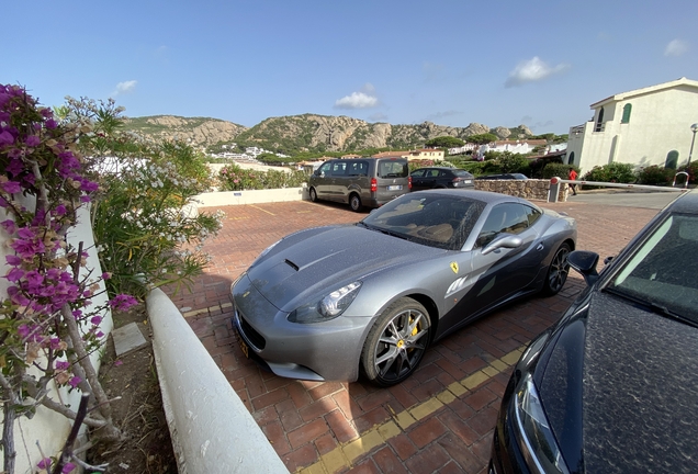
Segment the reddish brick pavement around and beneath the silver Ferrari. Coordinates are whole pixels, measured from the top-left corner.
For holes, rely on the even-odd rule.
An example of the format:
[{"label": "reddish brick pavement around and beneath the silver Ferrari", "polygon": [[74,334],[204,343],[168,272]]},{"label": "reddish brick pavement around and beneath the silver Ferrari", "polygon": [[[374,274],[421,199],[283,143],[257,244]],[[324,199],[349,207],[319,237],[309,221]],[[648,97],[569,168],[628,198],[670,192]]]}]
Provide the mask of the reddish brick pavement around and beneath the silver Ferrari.
[{"label": "reddish brick pavement around and beneath the silver Ferrari", "polygon": [[[656,210],[539,203],[575,217],[578,249],[612,256]],[[364,383],[303,382],[260,371],[230,327],[228,290],[269,245],[294,230],[353,223],[364,214],[328,203],[225,206],[213,257],[192,294],[172,296],[290,472],[483,473],[510,370],[526,343],[554,323],[584,287],[570,273],[556,296],[531,297],[431,347],[416,373],[380,390]],[[224,408],[223,408],[224,409]]]}]

